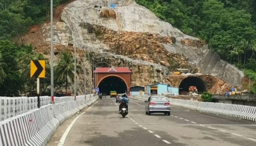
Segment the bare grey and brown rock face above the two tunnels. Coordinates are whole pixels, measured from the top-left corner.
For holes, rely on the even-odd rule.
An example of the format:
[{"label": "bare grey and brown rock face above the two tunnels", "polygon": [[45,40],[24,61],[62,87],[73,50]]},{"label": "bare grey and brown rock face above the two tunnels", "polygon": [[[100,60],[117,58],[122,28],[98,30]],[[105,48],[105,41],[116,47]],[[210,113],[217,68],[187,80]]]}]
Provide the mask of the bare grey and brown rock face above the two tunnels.
[{"label": "bare grey and brown rock face above the two tunnels", "polygon": [[[110,4],[116,7],[110,9]],[[92,8],[81,10],[87,7]],[[76,0],[63,10],[61,20],[55,23],[54,42],[109,52],[106,57],[110,57],[111,65],[116,65],[115,54],[127,55],[129,58],[121,56],[125,58],[121,62],[131,64],[135,78],[139,78],[139,73],[136,74],[134,67],[139,64],[138,59],[143,60],[145,65],[139,65],[143,72],[153,74],[143,77],[145,84],[165,82],[164,78],[175,68],[218,76],[236,86],[240,86],[244,77],[236,67],[209,50],[204,41],[183,34],[132,0]],[[44,39],[49,41],[49,26],[44,29]]]}]

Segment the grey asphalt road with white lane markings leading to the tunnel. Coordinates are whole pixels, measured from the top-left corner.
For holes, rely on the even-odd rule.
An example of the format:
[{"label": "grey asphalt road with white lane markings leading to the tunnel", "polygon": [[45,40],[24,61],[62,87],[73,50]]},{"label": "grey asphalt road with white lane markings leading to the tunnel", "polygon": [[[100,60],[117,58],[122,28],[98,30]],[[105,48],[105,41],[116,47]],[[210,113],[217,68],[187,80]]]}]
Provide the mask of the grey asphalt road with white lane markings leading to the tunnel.
[{"label": "grey asphalt road with white lane markings leading to the tunnel", "polygon": [[[76,118],[61,142],[50,146],[255,146],[255,122],[171,107],[171,116],[145,114],[130,98],[129,114],[118,114],[115,98],[99,99]],[[72,119],[73,120],[73,119]],[[71,121],[70,121],[71,122]],[[71,127],[72,126],[72,127]],[[64,132],[64,131],[62,131]],[[64,141],[65,140],[65,141]]]}]

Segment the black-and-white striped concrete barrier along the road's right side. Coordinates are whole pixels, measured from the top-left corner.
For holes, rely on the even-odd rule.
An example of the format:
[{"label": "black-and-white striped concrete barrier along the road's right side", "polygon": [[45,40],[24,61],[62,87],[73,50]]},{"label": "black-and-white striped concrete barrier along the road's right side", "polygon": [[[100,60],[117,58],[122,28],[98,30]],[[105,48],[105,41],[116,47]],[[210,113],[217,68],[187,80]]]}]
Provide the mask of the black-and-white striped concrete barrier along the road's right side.
[{"label": "black-and-white striped concrete barrier along the road's right side", "polygon": [[256,107],[253,106],[198,102],[173,98],[170,98],[170,102],[172,105],[188,108],[191,110],[256,121]]}]

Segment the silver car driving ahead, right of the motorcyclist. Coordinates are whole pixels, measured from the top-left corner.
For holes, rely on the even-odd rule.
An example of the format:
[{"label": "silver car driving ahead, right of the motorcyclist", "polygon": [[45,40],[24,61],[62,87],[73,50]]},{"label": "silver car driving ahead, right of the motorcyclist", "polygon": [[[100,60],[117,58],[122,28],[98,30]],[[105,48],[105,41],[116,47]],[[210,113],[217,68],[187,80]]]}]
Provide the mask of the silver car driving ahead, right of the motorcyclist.
[{"label": "silver car driving ahead, right of the motorcyclist", "polygon": [[165,115],[170,116],[171,106],[170,102],[164,96],[151,96],[148,100],[145,100],[146,104],[146,115],[151,113],[162,112]]}]

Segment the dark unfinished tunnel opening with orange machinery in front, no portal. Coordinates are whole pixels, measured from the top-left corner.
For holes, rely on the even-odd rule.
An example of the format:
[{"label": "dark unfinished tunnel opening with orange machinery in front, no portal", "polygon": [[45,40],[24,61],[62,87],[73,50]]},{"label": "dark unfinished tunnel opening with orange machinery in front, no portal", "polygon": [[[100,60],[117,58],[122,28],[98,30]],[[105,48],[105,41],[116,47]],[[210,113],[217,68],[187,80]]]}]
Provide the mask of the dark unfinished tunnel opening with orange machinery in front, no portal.
[{"label": "dark unfinished tunnel opening with orange machinery in front, no portal", "polygon": [[199,77],[187,77],[180,82],[179,94],[187,95],[190,86],[196,86],[199,94],[207,91],[207,86],[204,80]]}]

